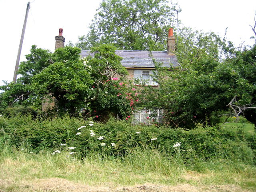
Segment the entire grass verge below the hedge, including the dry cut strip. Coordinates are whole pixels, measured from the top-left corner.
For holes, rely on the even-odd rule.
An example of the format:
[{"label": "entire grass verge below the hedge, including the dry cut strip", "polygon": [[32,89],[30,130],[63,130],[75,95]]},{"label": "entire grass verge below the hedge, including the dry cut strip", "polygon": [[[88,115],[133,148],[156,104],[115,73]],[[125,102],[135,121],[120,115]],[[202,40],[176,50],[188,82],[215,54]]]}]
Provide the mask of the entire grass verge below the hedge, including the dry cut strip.
[{"label": "entire grass verge below the hedge, including the dry cut strip", "polygon": [[[202,171],[174,165],[151,154],[143,166],[133,160],[75,160],[66,154],[16,151],[0,158],[0,192],[253,192],[255,166],[224,164]],[[155,156],[154,156],[155,155]],[[158,157],[158,158],[156,158]],[[204,167],[203,167],[204,166]],[[219,167],[219,168],[218,168]],[[212,170],[215,169],[215,170]]]}]

